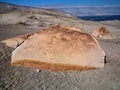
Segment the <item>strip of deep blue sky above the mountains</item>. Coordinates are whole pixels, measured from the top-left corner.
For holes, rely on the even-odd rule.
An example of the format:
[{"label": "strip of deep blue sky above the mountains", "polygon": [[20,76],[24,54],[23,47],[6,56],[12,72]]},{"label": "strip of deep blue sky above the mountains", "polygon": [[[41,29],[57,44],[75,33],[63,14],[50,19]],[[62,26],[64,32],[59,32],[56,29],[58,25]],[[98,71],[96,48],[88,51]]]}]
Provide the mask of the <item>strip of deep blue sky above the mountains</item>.
[{"label": "strip of deep blue sky above the mountains", "polygon": [[43,6],[43,5],[87,5],[87,6],[103,6],[103,5],[120,5],[120,0],[0,0],[0,2],[8,2],[22,6]]}]

